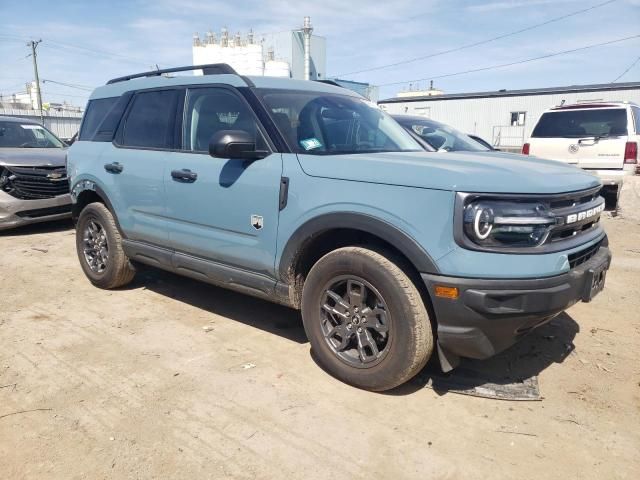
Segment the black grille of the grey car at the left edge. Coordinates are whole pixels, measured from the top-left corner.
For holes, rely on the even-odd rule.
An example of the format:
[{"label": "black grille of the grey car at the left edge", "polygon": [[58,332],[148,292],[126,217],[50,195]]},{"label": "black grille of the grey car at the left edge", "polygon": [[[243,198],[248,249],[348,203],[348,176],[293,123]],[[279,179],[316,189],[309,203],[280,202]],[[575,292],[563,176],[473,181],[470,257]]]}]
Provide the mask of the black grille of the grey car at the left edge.
[{"label": "black grille of the grey car at the left edge", "polygon": [[2,189],[23,200],[53,198],[69,193],[65,167],[4,167]]}]

